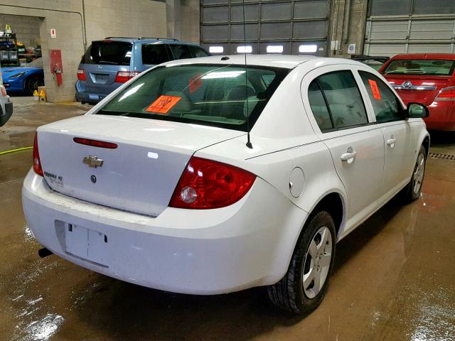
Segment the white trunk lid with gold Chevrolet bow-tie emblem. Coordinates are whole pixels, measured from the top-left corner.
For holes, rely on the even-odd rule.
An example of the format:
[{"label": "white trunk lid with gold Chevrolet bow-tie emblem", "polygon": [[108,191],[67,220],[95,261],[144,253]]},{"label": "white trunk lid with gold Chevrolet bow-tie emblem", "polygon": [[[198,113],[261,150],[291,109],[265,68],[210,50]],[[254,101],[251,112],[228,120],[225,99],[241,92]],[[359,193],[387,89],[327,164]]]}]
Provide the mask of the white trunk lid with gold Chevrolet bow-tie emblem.
[{"label": "white trunk lid with gold Chevrolet bow-tie emblem", "polygon": [[[53,190],[158,216],[195,151],[243,134],[196,124],[86,115],[41,127],[38,145],[45,180]],[[117,148],[80,144],[75,138]]]}]

